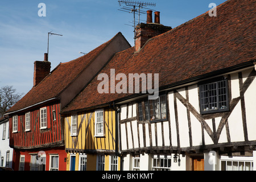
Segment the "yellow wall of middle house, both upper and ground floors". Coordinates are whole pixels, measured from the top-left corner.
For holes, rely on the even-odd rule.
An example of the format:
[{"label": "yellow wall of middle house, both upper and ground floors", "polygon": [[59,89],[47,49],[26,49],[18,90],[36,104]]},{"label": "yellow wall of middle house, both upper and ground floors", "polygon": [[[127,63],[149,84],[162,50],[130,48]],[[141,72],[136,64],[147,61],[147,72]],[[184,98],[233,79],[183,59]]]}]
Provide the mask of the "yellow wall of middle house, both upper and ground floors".
[{"label": "yellow wall of middle house, both upper and ground floors", "polygon": [[[77,136],[71,136],[71,115],[65,117],[65,148],[76,152],[76,170],[79,169],[79,152],[84,150],[115,150],[115,111],[104,109],[104,137],[94,137],[95,111],[77,114]],[[87,171],[96,171],[97,154],[87,155]],[[120,169],[120,160],[118,159]],[[70,154],[67,170],[69,171]],[[105,171],[109,170],[109,154],[105,155]]]}]

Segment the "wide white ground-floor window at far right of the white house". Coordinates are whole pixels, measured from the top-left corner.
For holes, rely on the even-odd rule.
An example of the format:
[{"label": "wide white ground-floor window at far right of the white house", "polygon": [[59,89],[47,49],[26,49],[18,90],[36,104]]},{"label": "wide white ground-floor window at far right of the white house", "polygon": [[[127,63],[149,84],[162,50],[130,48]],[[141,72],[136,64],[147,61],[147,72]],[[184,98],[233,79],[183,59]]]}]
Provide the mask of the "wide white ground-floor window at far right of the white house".
[{"label": "wide white ground-floor window at far right of the white house", "polygon": [[[221,171],[253,171],[252,157],[235,157],[236,159],[229,159],[226,156],[221,156]],[[247,159],[248,158],[248,159]],[[251,158],[251,159],[250,159]]]}]

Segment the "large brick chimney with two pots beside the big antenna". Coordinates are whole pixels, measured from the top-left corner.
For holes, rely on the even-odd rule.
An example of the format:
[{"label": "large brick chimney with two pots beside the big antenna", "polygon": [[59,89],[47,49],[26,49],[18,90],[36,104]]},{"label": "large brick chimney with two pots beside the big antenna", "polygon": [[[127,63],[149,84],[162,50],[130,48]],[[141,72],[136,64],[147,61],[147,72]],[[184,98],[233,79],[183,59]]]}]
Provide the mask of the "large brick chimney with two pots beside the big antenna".
[{"label": "large brick chimney with two pots beside the big antenna", "polygon": [[138,24],[135,28],[135,51],[141,50],[148,39],[171,30],[172,27],[160,24],[160,12],[155,11],[155,22],[152,23],[152,11],[147,11],[147,23]]}]

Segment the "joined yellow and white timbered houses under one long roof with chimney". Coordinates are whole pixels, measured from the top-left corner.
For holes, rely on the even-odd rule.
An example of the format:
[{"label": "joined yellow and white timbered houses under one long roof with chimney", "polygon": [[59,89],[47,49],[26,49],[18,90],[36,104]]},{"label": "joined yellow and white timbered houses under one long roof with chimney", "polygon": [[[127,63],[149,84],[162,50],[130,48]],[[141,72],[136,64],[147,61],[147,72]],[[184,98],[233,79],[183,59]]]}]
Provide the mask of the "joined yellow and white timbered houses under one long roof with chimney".
[{"label": "joined yellow and white timbered houses under one long roof with chimney", "polygon": [[[254,7],[253,0],[229,0],[217,6],[217,16],[207,12],[173,29],[160,24],[159,12],[152,23],[148,11],[147,23],[137,26],[135,47],[115,53],[102,68],[106,82],[99,73],[64,109],[69,160],[109,147],[124,170],[253,170]],[[145,78],[147,86],[158,82],[158,97],[144,93]],[[104,109],[101,139],[98,109]],[[115,137],[108,127],[113,110]],[[78,135],[70,137],[73,131]],[[103,142],[109,138],[118,147]]]}]

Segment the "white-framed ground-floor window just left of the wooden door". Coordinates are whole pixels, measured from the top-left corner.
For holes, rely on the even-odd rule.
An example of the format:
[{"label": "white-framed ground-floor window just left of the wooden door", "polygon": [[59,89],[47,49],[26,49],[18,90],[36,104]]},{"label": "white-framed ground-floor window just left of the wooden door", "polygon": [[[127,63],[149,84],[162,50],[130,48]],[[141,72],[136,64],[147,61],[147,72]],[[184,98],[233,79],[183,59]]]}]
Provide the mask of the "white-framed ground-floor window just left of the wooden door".
[{"label": "white-framed ground-floor window just left of the wooden door", "polygon": [[170,171],[171,170],[171,156],[170,155],[154,155],[153,171]]}]

